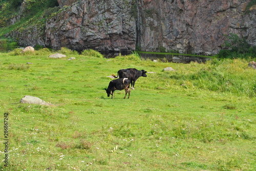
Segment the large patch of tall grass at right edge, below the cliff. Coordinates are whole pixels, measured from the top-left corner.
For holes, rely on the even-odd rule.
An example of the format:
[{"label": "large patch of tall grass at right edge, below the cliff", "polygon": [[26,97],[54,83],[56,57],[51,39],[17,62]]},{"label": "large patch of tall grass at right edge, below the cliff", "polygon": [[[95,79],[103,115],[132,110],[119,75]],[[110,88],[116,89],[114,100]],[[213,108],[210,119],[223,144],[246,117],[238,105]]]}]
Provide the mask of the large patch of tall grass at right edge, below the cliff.
[{"label": "large patch of tall grass at right edge, below the cliff", "polygon": [[213,59],[194,72],[175,72],[169,77],[179,80],[179,84],[187,89],[196,88],[254,97],[256,96],[254,75],[255,70],[248,67],[245,59]]}]

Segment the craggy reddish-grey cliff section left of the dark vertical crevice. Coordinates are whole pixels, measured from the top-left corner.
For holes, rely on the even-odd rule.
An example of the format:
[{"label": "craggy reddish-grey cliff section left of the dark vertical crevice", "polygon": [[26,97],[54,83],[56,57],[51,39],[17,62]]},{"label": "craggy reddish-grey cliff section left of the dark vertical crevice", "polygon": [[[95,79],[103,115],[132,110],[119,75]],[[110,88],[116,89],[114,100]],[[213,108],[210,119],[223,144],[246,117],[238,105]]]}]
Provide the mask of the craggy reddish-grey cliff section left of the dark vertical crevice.
[{"label": "craggy reddish-grey cliff section left of the dark vertical crevice", "polygon": [[78,51],[135,50],[136,22],[130,11],[129,1],[78,1],[47,20],[46,45]]}]

